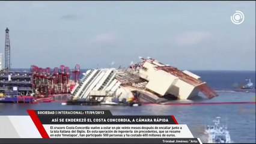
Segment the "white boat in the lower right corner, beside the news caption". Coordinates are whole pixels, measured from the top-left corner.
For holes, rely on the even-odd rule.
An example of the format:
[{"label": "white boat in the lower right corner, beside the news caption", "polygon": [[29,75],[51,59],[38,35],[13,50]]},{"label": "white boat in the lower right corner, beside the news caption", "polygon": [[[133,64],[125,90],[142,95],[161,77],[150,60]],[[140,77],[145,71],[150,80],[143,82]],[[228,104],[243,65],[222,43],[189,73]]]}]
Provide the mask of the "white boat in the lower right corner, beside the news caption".
[{"label": "white boat in the lower right corner, beside the news caption", "polygon": [[208,135],[208,143],[231,143],[227,126],[221,125],[221,117],[216,117],[215,125],[207,125],[205,134]]}]

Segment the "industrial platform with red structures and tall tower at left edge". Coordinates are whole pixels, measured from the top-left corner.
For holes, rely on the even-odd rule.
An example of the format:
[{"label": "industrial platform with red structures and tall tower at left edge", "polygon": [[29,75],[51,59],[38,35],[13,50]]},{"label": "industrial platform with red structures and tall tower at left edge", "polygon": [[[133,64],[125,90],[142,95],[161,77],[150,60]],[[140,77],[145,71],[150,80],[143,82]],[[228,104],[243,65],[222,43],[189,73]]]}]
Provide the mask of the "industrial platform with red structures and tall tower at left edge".
[{"label": "industrial platform with red structures and tall tower at left edge", "polygon": [[[69,71],[69,67],[60,65],[53,71],[31,65],[31,71],[11,70],[10,30],[5,29],[5,68],[2,70],[2,53],[0,53],[0,102],[1,101],[30,101],[29,97],[62,98],[59,94],[70,94],[70,91],[78,82],[80,66]],[[72,79],[70,77],[72,76]]]}]

